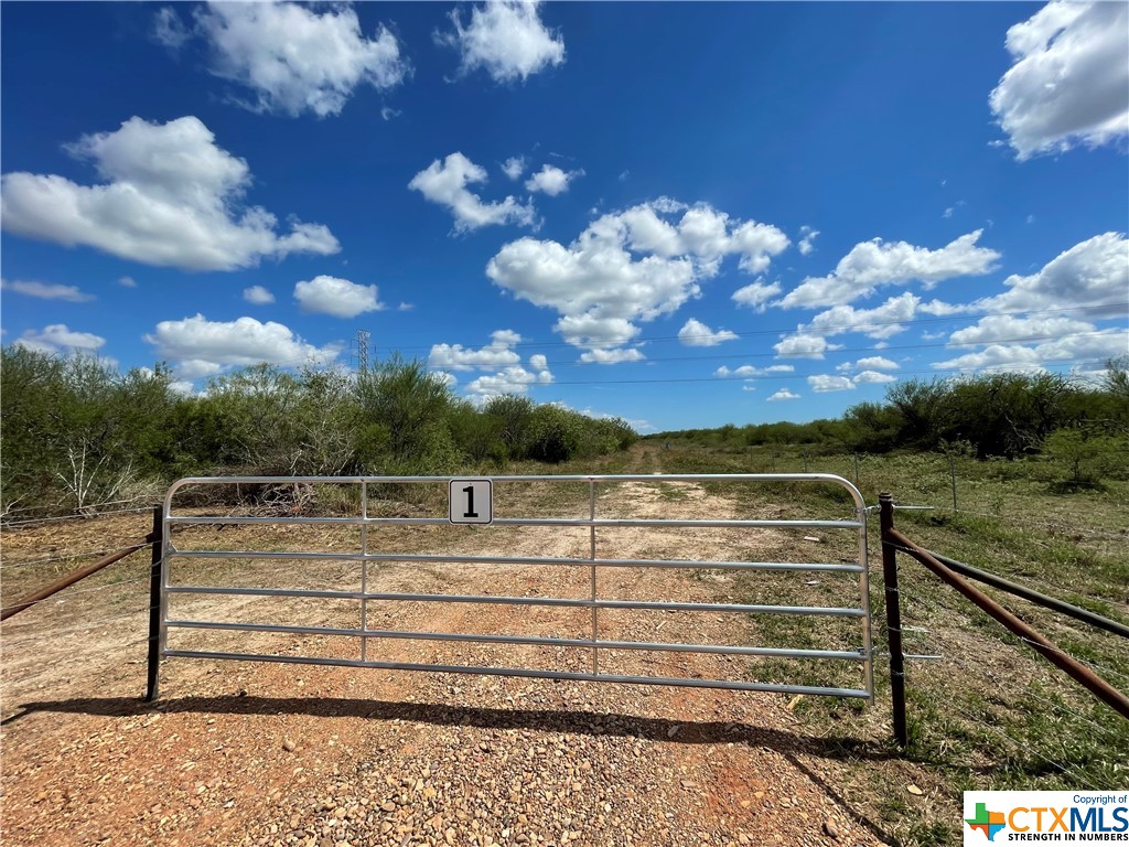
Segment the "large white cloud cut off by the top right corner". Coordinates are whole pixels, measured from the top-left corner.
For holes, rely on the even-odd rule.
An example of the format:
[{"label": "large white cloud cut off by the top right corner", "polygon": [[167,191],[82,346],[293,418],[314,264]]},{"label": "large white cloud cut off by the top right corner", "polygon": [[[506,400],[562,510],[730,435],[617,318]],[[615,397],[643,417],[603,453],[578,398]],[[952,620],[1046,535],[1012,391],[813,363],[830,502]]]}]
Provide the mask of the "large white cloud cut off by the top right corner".
[{"label": "large white cloud cut off by the top right corner", "polygon": [[989,102],[1018,159],[1129,134],[1129,5],[1052,0],[1007,30]]}]

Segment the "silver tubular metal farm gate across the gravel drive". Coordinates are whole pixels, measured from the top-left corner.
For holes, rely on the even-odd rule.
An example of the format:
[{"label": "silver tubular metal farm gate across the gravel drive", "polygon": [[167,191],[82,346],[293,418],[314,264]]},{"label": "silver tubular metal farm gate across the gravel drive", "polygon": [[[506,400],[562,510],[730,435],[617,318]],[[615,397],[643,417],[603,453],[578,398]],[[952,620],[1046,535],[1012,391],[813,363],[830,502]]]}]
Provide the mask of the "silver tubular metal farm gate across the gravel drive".
[{"label": "silver tubular metal farm gate across the gravel drive", "polygon": [[[440,526],[452,524],[441,517],[403,517],[378,516],[370,512],[371,492],[374,488],[384,486],[435,484],[449,487],[455,481],[449,477],[219,477],[182,479],[168,490],[163,510],[164,547],[155,547],[155,574],[159,568],[159,579],[155,576],[154,617],[150,641],[150,674],[147,699],[154,700],[159,693],[158,667],[159,660],[170,657],[280,662],[288,664],[338,665],[349,667],[376,667],[396,671],[434,671],[446,673],[471,673],[499,676],[524,676],[535,679],[585,680],[592,682],[620,682],[659,686],[684,686],[691,688],[721,688],[742,691],[773,691],[781,693],[823,695],[830,697],[865,698],[874,697],[873,641],[870,628],[869,586],[867,576],[867,509],[861,494],[848,480],[826,473],[773,473],[773,474],[614,474],[614,475],[530,475],[530,477],[490,477],[492,487],[505,487],[519,483],[542,484],[580,484],[587,486],[587,515],[583,517],[522,517],[500,516],[492,519],[490,527],[478,527],[480,531],[493,531],[497,527],[586,527],[588,530],[587,557],[531,557],[531,556],[474,556],[449,552],[408,553],[408,552],[374,552],[370,542],[374,533],[382,529],[394,526]],[[854,517],[848,519],[759,519],[759,518],[615,518],[597,515],[597,486],[623,483],[830,483],[844,489],[854,503]],[[191,487],[200,486],[351,486],[359,488],[358,514],[345,517],[310,517],[310,516],[224,516],[224,515],[187,515],[174,510],[175,496]],[[493,489],[491,489],[493,490]],[[469,509],[473,512],[473,507]],[[352,552],[322,551],[250,551],[250,550],[200,550],[181,549],[173,542],[173,527],[202,525],[289,525],[289,526],[335,526],[358,527],[359,549]],[[639,529],[728,529],[761,530],[793,529],[823,530],[828,532],[848,532],[857,536],[857,559],[835,562],[767,562],[767,561],[714,561],[695,559],[647,559],[647,558],[610,558],[599,557],[598,533],[611,527]],[[464,531],[466,527],[461,527]],[[180,585],[169,579],[172,565],[181,557],[219,560],[268,560],[280,566],[294,566],[303,561],[332,561],[355,566],[359,570],[359,591],[315,590],[315,588],[278,588],[219,585]],[[815,557],[807,557],[815,558]],[[498,596],[469,594],[431,594],[431,593],[396,593],[373,591],[370,587],[370,567],[379,567],[386,562],[403,562],[419,566],[443,566],[450,564],[495,566],[574,566],[587,568],[589,571],[589,591],[585,597],[549,597],[549,596]],[[774,605],[752,603],[704,603],[662,600],[615,600],[603,599],[599,595],[599,574],[610,568],[642,569],[691,569],[708,568],[726,571],[813,571],[857,574],[858,595],[856,605],[811,606],[811,605]],[[320,627],[305,625],[252,623],[239,621],[216,621],[169,617],[172,599],[185,596],[229,596],[229,597],[292,597],[309,601],[355,601],[359,606],[359,627]],[[545,606],[590,609],[590,635],[583,638],[557,638],[535,635],[489,635],[475,632],[440,632],[413,631],[402,629],[380,629],[370,626],[369,604],[384,601],[401,601],[435,604],[502,604],[506,606]],[[747,645],[712,645],[680,644],[644,640],[605,639],[601,637],[601,612],[607,610],[665,610],[684,612],[709,612],[717,614],[738,615],[821,615],[843,618],[858,621],[860,644],[857,649],[812,649],[767,647]],[[212,630],[242,631],[252,634],[283,634],[291,636],[339,636],[355,639],[359,643],[358,655],[355,658],[341,656],[280,655],[255,652],[208,650],[169,648],[169,631]],[[571,647],[585,648],[590,652],[590,671],[575,672],[562,670],[539,670],[532,667],[498,667],[436,664],[427,662],[378,661],[369,656],[369,643],[378,639],[409,639],[418,641],[461,641],[484,645],[526,645],[537,647]],[[834,660],[837,662],[857,663],[861,667],[863,684],[858,688],[838,686],[812,686],[772,683],[745,680],[698,679],[691,676],[648,676],[601,671],[599,658],[603,650],[644,650],[683,654],[729,654],[737,656],[759,656],[791,660]]]}]

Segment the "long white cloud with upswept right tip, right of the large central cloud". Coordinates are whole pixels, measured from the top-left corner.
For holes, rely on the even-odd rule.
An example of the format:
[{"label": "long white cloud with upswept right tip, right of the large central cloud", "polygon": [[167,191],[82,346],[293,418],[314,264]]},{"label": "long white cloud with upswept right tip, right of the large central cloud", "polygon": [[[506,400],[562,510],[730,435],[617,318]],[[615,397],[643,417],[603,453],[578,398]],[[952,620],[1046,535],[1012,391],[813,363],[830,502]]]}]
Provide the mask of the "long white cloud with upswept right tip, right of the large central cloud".
[{"label": "long white cloud with upswept right tip, right of the large central cloud", "polygon": [[785,308],[835,306],[873,294],[889,285],[918,280],[925,288],[954,277],[988,273],[999,253],[977,246],[978,229],[939,250],[881,238],[856,244],[826,277],[808,277],[777,305]]}]

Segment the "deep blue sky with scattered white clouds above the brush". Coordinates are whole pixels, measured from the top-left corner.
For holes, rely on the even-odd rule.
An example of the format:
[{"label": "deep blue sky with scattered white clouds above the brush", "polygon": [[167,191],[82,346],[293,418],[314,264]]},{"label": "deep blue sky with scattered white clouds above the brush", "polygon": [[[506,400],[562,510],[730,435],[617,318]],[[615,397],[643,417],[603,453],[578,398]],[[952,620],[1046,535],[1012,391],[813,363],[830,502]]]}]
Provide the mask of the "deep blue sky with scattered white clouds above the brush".
[{"label": "deep blue sky with scattered white clouds above the brush", "polygon": [[645,431],[1129,351],[1126,3],[5,3],[3,342]]}]

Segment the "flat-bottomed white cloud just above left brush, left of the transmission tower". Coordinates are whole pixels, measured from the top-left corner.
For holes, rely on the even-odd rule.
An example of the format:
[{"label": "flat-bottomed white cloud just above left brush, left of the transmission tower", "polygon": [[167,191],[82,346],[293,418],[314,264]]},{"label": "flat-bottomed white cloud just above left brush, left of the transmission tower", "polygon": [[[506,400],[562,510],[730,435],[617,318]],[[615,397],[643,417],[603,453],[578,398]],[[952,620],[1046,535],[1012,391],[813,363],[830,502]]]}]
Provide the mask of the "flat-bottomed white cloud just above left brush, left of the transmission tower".
[{"label": "flat-bottomed white cloud just above left brush, left of the transmission tower", "polygon": [[341,351],[335,344],[318,348],[307,343],[274,321],[209,321],[199,314],[182,321],[161,321],[145,340],[157,348],[160,358],[177,363],[177,373],[186,379],[263,361],[325,365]]}]

